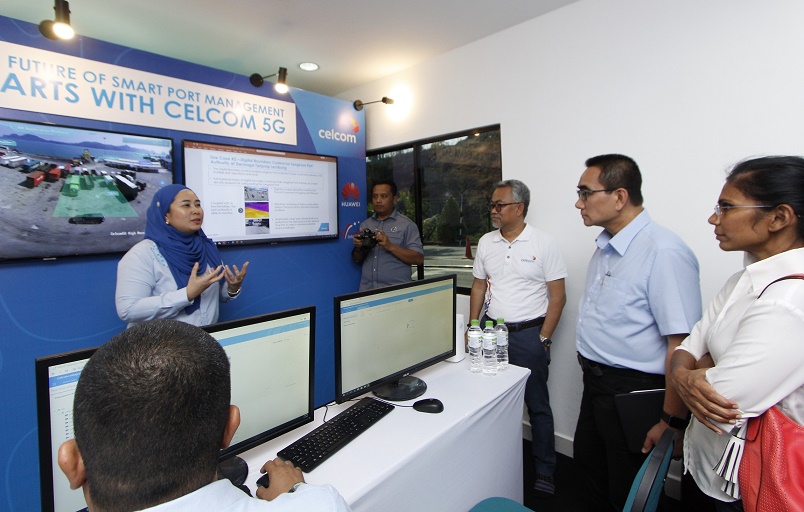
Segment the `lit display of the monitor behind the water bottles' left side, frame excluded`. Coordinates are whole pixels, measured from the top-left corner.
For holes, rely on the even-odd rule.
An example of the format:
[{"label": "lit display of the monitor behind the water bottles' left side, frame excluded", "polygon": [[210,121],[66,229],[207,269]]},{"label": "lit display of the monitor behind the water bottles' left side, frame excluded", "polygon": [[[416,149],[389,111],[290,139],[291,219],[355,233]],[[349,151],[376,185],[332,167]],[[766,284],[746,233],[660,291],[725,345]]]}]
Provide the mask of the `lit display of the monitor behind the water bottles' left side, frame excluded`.
[{"label": "lit display of the monitor behind the water bottles' left side, frame excluded", "polygon": [[[415,291],[395,290],[341,303],[344,390],[449,351],[455,322],[452,294],[452,284],[433,283]],[[374,335],[378,332],[383,335]]]}]

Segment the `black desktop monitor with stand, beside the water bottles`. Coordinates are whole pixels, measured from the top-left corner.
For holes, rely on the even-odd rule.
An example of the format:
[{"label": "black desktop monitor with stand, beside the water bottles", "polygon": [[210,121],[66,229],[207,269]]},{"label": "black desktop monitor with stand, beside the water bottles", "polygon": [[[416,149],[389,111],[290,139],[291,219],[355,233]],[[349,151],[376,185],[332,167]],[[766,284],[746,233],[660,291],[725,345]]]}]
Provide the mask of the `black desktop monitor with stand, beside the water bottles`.
[{"label": "black desktop monitor with stand, beside the water bottles", "polygon": [[446,275],[335,297],[335,399],[373,391],[410,400],[427,385],[410,375],[455,355],[457,277]]}]

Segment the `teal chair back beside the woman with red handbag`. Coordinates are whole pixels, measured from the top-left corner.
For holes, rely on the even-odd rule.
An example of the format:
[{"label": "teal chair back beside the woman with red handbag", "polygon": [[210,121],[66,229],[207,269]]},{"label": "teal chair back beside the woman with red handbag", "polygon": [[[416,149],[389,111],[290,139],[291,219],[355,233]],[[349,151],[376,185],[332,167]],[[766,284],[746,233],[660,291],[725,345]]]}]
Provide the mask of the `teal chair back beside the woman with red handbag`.
[{"label": "teal chair back beside the woman with red handbag", "polygon": [[666,429],[639,469],[623,512],[655,512],[673,458],[675,431]]}]

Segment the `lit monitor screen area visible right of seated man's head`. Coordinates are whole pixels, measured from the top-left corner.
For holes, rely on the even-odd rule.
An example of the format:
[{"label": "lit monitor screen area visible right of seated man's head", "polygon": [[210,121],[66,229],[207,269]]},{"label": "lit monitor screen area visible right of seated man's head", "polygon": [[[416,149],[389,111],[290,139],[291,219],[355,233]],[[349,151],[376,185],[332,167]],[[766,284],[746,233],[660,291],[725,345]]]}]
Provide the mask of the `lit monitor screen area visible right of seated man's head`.
[{"label": "lit monitor screen area visible right of seated man's head", "polygon": [[307,413],[310,315],[212,333],[229,356],[240,427],[232,445]]}]

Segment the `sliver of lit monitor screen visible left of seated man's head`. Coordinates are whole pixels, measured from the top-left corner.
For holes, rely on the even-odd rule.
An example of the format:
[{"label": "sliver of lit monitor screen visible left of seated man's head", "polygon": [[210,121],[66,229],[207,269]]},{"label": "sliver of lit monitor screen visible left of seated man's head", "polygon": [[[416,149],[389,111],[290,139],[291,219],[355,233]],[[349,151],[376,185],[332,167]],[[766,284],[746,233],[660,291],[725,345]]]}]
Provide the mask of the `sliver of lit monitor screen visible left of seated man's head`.
[{"label": "sliver of lit monitor screen visible left of seated man's head", "polygon": [[49,370],[50,451],[53,465],[53,498],[56,512],[75,512],[87,506],[81,489],[70,489],[70,482],[58,464],[59,446],[75,437],[73,430],[73,396],[81,370],[89,359],[53,366]]}]

